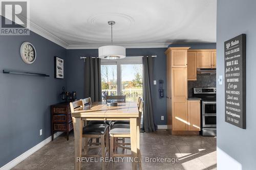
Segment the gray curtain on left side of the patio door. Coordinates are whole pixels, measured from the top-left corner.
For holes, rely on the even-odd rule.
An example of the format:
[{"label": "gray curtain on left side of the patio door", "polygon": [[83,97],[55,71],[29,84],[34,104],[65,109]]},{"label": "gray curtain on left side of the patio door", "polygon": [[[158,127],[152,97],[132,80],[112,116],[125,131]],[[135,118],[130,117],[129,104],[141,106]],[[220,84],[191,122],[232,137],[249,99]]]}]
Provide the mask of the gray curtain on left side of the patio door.
[{"label": "gray curtain on left side of the patio door", "polygon": [[100,58],[87,57],[84,64],[85,97],[92,102],[101,102]]}]

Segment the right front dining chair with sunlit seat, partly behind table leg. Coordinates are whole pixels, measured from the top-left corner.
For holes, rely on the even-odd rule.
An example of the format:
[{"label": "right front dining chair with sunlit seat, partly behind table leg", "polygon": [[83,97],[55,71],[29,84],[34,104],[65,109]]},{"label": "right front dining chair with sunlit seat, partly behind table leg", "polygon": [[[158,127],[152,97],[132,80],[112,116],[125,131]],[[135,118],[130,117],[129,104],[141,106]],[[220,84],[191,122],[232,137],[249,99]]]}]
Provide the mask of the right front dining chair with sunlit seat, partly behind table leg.
[{"label": "right front dining chair with sunlit seat, partly behind table leg", "polygon": [[[140,99],[139,102],[139,117],[137,119],[137,125],[139,126],[140,129],[140,120],[141,120],[141,115],[143,112],[143,101]],[[118,142],[117,138],[118,137],[125,137],[125,138],[131,138],[131,133],[130,133],[130,125],[129,128],[114,128],[110,130],[110,158],[114,159],[114,157],[132,157],[132,154],[116,154],[115,152],[117,151],[117,148],[123,148],[126,150],[131,150],[129,147],[125,147],[125,145],[131,145],[131,143],[120,143]],[[138,139],[139,140],[139,139]],[[140,150],[138,150],[138,157],[140,159],[139,161],[139,168],[142,169],[141,167],[141,154]]]}]

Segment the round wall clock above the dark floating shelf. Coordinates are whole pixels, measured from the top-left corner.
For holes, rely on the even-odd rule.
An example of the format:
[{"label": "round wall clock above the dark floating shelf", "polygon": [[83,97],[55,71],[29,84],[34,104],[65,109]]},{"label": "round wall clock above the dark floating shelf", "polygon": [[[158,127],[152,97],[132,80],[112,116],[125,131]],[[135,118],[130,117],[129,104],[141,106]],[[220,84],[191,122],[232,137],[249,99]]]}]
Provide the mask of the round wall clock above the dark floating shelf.
[{"label": "round wall clock above the dark floating shelf", "polygon": [[35,47],[30,42],[23,42],[20,46],[20,57],[27,64],[32,64],[36,58]]}]

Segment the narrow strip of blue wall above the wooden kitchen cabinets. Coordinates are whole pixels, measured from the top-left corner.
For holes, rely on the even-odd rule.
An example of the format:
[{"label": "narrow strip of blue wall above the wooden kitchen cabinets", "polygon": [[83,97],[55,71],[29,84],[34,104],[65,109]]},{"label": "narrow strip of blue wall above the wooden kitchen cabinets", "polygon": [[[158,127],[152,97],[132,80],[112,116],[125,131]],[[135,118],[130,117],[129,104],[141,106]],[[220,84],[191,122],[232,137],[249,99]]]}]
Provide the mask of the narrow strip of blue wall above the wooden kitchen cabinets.
[{"label": "narrow strip of blue wall above the wooden kitchen cabinets", "polygon": [[190,46],[189,49],[216,49],[216,43],[179,43],[169,44],[168,47]]}]

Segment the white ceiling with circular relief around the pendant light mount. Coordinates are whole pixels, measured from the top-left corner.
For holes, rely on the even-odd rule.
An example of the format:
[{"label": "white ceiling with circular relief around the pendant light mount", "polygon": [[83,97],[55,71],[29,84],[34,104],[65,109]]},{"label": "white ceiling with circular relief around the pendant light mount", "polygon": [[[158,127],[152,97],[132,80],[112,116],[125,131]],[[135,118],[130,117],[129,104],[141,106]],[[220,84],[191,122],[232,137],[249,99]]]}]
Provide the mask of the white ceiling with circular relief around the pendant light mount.
[{"label": "white ceiling with circular relief around the pendant light mount", "polygon": [[216,42],[216,4],[216,0],[36,0],[30,1],[30,21],[32,31],[48,34],[67,48],[109,44],[109,20],[116,21],[114,44]]}]

